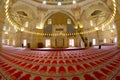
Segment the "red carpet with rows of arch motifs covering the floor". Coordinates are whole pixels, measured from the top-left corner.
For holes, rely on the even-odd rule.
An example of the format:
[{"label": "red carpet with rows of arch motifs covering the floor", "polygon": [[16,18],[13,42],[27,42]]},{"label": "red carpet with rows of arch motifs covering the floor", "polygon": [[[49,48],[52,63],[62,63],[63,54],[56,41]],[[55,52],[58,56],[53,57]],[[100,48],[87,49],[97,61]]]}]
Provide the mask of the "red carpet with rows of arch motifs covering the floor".
[{"label": "red carpet with rows of arch motifs covering the floor", "polygon": [[0,80],[120,80],[120,49],[0,50]]}]

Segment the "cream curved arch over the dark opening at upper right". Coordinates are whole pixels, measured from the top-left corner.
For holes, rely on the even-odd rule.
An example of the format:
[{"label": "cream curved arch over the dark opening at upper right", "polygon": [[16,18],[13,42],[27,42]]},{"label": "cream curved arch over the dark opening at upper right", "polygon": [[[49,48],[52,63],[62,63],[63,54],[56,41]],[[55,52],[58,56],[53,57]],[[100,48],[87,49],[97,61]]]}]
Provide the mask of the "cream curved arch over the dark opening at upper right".
[{"label": "cream curved arch over the dark opening at upper right", "polygon": [[[81,10],[81,16],[84,16],[85,20],[89,20],[91,18],[91,14],[100,11],[100,13],[105,13],[104,16],[109,16],[110,10],[102,1],[95,1],[92,4],[84,6]],[[98,14],[97,14],[98,15]]]}]

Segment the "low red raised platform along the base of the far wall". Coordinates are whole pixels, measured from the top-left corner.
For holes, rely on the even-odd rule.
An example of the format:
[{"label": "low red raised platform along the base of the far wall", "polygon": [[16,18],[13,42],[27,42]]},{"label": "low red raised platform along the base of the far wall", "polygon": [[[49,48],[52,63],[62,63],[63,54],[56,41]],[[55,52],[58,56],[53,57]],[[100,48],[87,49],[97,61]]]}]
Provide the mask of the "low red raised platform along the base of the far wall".
[{"label": "low red raised platform along the base of the far wall", "polygon": [[80,47],[70,47],[70,48],[32,48],[35,51],[69,51],[69,50],[85,50],[85,48]]}]

